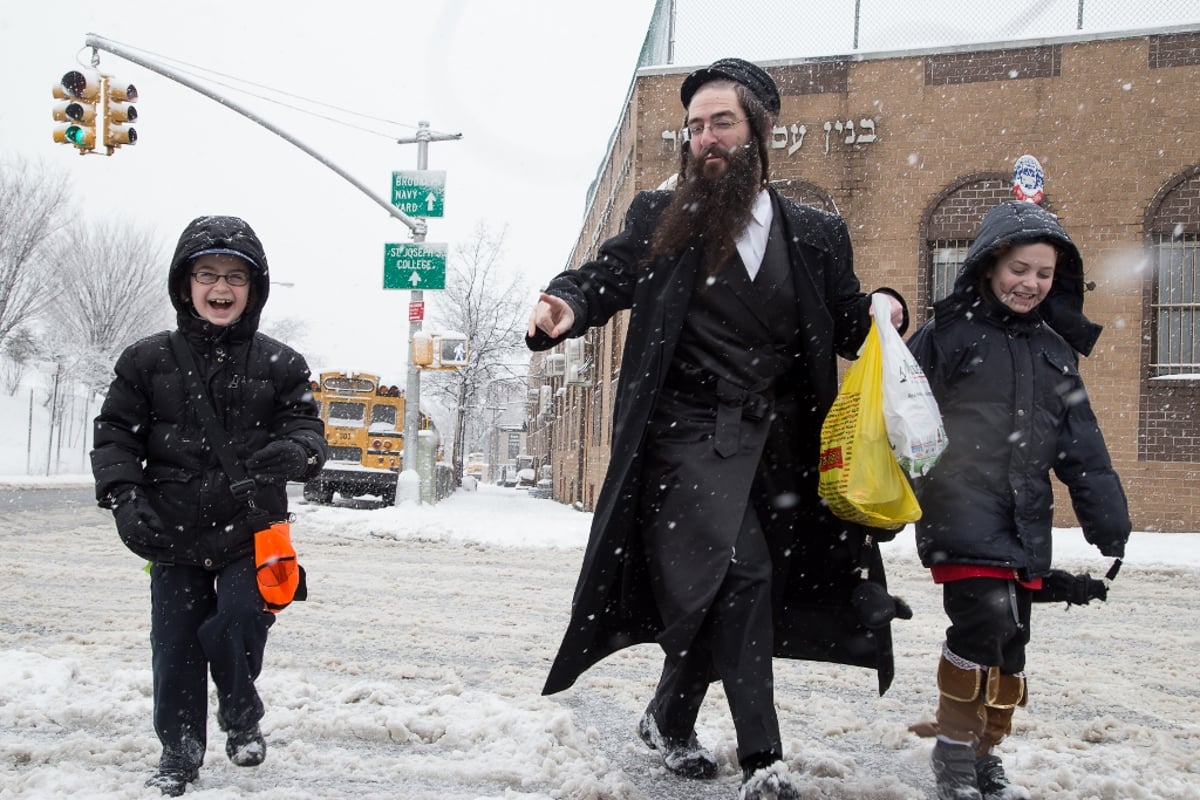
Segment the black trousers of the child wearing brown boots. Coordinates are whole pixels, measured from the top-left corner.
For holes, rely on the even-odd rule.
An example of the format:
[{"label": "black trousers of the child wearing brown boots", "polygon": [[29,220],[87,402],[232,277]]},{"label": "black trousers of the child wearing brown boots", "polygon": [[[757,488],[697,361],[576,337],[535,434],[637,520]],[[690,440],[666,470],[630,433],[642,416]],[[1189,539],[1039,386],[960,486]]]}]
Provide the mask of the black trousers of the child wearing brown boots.
[{"label": "black trousers of the child wearing brown boots", "polygon": [[1016,581],[966,578],[942,584],[942,607],[950,619],[946,645],[980,667],[1006,675],[1025,669],[1033,593]]}]

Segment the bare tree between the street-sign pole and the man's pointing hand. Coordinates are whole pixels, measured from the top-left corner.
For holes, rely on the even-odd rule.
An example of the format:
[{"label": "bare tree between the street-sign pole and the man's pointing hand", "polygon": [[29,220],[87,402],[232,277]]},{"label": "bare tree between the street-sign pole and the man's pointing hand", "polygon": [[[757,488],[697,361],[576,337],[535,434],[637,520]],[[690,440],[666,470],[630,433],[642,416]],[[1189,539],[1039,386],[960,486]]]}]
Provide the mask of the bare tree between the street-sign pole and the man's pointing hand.
[{"label": "bare tree between the street-sign pole and the man's pointing hand", "polygon": [[451,461],[460,477],[468,427],[484,427],[480,393],[493,381],[518,377],[516,365],[528,361],[523,336],[529,297],[521,276],[504,266],[505,234],[506,228],[494,231],[480,222],[470,239],[454,247],[446,288],[434,299],[442,326],[466,335],[470,347],[466,367],[430,380],[446,407],[456,409]]}]

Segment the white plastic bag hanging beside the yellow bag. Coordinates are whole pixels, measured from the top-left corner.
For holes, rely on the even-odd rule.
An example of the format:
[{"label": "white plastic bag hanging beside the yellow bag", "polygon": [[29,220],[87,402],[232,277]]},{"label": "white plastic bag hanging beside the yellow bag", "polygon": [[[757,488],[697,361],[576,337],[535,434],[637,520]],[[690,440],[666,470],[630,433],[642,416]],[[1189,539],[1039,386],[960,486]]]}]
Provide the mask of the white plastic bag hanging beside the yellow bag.
[{"label": "white plastic bag hanging beside the yellow bag", "polygon": [[900,467],[917,477],[928,473],[941,457],[946,445],[942,413],[929,386],[925,372],[908,351],[888,320],[892,301],[886,294],[871,296],[883,349],[883,421],[888,441]]}]

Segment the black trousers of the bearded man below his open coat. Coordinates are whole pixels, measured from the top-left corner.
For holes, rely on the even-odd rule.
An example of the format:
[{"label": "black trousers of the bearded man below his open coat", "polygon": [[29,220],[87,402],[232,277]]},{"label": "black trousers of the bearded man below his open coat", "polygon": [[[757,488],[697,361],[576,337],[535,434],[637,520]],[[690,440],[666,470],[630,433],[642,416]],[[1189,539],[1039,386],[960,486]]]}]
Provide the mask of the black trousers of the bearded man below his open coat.
[{"label": "black trousers of the bearded man below his open coat", "polygon": [[738,735],[738,759],[781,756],[775,712],[770,554],[754,507],[746,505],[728,572],[691,648],[667,652],[652,711],[664,736],[686,741],[714,673],[721,679]]}]

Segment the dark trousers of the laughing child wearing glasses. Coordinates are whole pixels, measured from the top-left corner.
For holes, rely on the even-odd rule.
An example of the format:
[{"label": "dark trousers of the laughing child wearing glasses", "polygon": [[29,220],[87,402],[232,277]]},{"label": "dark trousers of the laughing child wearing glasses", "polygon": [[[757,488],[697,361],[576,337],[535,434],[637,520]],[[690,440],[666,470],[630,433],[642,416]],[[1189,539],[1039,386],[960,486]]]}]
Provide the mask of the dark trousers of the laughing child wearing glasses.
[{"label": "dark trousers of the laughing child wearing glasses", "polygon": [[263,608],[251,557],[216,572],[178,565],[150,569],[154,727],[162,742],[161,766],[192,769],[204,763],[210,670],[222,730],[242,730],[263,717],[254,680],[274,622],[275,614]]}]

